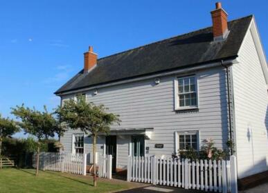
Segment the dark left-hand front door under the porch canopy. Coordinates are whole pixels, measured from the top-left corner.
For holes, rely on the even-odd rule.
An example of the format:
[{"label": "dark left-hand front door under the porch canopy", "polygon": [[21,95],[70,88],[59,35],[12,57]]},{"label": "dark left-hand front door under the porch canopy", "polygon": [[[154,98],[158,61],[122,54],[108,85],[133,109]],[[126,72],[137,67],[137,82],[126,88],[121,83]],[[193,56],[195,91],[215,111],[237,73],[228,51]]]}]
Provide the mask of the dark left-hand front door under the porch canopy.
[{"label": "dark left-hand front door under the porch canopy", "polygon": [[106,154],[112,156],[112,172],[116,172],[116,135],[106,136]]}]

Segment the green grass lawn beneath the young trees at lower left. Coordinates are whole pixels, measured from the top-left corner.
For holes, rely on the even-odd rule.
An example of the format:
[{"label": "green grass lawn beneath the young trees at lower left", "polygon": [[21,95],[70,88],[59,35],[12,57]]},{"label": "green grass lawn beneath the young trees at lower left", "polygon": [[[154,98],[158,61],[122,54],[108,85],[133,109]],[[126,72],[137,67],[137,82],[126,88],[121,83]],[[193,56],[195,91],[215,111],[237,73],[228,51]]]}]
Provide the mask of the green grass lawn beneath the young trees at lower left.
[{"label": "green grass lawn beneath the young trees at lower left", "polygon": [[115,192],[131,186],[125,181],[98,179],[98,187],[93,187],[90,176],[42,171],[35,176],[31,169],[0,170],[0,192]]}]

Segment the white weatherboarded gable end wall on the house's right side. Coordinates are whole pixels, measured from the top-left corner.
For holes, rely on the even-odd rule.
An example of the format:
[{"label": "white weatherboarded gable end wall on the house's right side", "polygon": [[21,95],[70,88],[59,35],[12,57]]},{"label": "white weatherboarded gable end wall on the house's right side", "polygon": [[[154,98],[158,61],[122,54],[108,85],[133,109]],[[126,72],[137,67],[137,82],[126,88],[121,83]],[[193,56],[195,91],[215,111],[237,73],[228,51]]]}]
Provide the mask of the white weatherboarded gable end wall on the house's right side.
[{"label": "white weatherboarded gable end wall on the house's right side", "polygon": [[254,44],[255,26],[247,32],[233,65],[238,176],[242,178],[268,170],[268,96],[265,77]]}]

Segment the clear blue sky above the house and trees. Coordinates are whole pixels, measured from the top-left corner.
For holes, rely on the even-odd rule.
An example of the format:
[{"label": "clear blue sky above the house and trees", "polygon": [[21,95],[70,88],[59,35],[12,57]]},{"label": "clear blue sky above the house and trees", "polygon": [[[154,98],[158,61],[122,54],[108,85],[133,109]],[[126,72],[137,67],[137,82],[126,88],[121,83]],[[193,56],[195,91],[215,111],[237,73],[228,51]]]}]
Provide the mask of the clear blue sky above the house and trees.
[{"label": "clear blue sky above the house and trees", "polygon": [[[57,88],[93,45],[105,57],[211,26],[216,1],[1,1],[0,113],[25,103],[55,108]],[[268,50],[268,1],[222,1],[229,20],[254,14]]]}]

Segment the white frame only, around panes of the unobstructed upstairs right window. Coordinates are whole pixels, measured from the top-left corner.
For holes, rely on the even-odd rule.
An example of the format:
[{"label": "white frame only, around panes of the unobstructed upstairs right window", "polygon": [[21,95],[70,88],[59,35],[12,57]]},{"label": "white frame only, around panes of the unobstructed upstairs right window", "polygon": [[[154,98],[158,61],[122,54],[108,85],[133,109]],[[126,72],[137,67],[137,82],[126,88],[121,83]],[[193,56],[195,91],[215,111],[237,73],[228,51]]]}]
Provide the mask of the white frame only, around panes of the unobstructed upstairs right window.
[{"label": "white frame only, around panes of the unobstructed upstairs right window", "polygon": [[[195,93],[197,97],[197,105],[190,105],[190,106],[179,106],[179,79],[186,79],[186,78],[195,78]],[[174,99],[175,99],[175,110],[191,110],[199,108],[199,94],[198,94],[198,79],[196,75],[184,76],[184,77],[175,77],[174,79]]]}]

